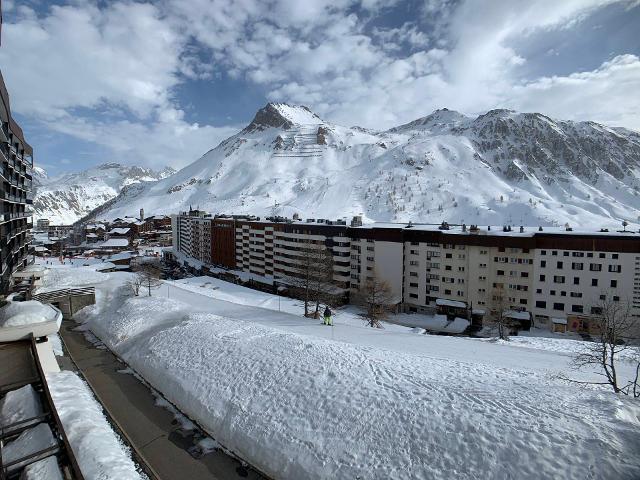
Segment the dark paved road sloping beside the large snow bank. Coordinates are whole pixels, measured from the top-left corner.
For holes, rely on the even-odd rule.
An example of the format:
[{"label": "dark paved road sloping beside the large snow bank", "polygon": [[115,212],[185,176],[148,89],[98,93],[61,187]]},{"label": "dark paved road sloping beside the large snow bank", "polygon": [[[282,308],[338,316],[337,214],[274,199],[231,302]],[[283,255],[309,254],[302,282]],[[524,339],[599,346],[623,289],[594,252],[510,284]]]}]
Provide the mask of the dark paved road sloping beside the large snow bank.
[{"label": "dark paved road sloping beside the large snow bank", "polygon": [[264,479],[220,450],[200,458],[192,456],[188,450],[194,445],[194,431],[182,429],[171,412],[156,405],[147,386],[135,376],[119,372],[125,364],[108,349],[96,348],[81,332],[73,331],[75,326],[64,321],[60,328],[67,353],[158,478]]}]

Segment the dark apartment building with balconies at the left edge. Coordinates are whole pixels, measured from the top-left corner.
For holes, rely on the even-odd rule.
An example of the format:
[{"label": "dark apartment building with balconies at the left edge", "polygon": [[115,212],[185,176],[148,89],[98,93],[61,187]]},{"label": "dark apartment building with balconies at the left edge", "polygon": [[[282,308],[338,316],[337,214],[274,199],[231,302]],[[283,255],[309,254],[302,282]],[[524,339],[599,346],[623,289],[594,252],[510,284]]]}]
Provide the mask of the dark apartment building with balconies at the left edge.
[{"label": "dark apartment building with balconies at the left edge", "polygon": [[0,121],[0,293],[7,293],[12,274],[27,265],[31,243],[33,149],[11,116],[1,73]]}]

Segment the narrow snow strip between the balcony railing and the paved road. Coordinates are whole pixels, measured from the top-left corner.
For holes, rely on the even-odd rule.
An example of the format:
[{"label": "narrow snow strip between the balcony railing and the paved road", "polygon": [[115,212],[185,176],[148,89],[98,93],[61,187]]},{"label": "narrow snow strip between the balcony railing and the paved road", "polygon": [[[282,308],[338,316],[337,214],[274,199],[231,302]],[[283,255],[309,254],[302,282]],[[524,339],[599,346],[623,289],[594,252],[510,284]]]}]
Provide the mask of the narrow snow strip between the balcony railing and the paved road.
[{"label": "narrow snow strip between the balcony railing and the paved road", "polygon": [[47,381],[84,477],[141,479],[128,448],[111,429],[102,407],[80,377],[66,371],[47,374]]}]

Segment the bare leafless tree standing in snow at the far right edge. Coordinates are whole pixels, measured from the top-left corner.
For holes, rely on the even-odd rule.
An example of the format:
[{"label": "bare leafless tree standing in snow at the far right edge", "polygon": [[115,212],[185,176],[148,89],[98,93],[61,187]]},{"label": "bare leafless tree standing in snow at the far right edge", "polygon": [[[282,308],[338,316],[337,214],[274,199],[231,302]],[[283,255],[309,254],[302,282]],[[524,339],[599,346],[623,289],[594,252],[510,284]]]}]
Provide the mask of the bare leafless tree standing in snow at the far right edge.
[{"label": "bare leafless tree standing in snow at the far right edge", "polygon": [[[610,292],[608,292],[610,293]],[[601,382],[576,382],[592,385],[609,385],[615,393],[640,397],[640,356],[638,340],[640,339],[640,319],[631,315],[629,301],[614,300],[612,294],[605,294],[591,307],[593,342],[585,342],[585,346],[574,358],[578,368],[594,366],[597,374],[603,377]],[[620,380],[618,363],[622,352],[629,354],[636,364],[635,377]],[[635,351],[635,355],[633,355]],[[626,354],[625,354],[626,355]],[[571,380],[574,381],[574,380]],[[575,382],[575,381],[574,381]]]}]

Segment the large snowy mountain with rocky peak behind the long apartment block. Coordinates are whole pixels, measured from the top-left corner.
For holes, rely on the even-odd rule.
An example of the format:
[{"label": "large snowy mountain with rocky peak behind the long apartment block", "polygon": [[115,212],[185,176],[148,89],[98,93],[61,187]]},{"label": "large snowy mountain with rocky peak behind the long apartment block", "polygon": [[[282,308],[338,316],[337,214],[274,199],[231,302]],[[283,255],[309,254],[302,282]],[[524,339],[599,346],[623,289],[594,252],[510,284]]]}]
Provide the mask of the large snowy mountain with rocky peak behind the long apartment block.
[{"label": "large snowy mountain with rocky peak behind the long apartment block", "polygon": [[618,226],[640,216],[640,134],[538,113],[447,109],[385,132],[268,104],[163,180],[124,189],[100,218],[175,213],[377,221]]}]

